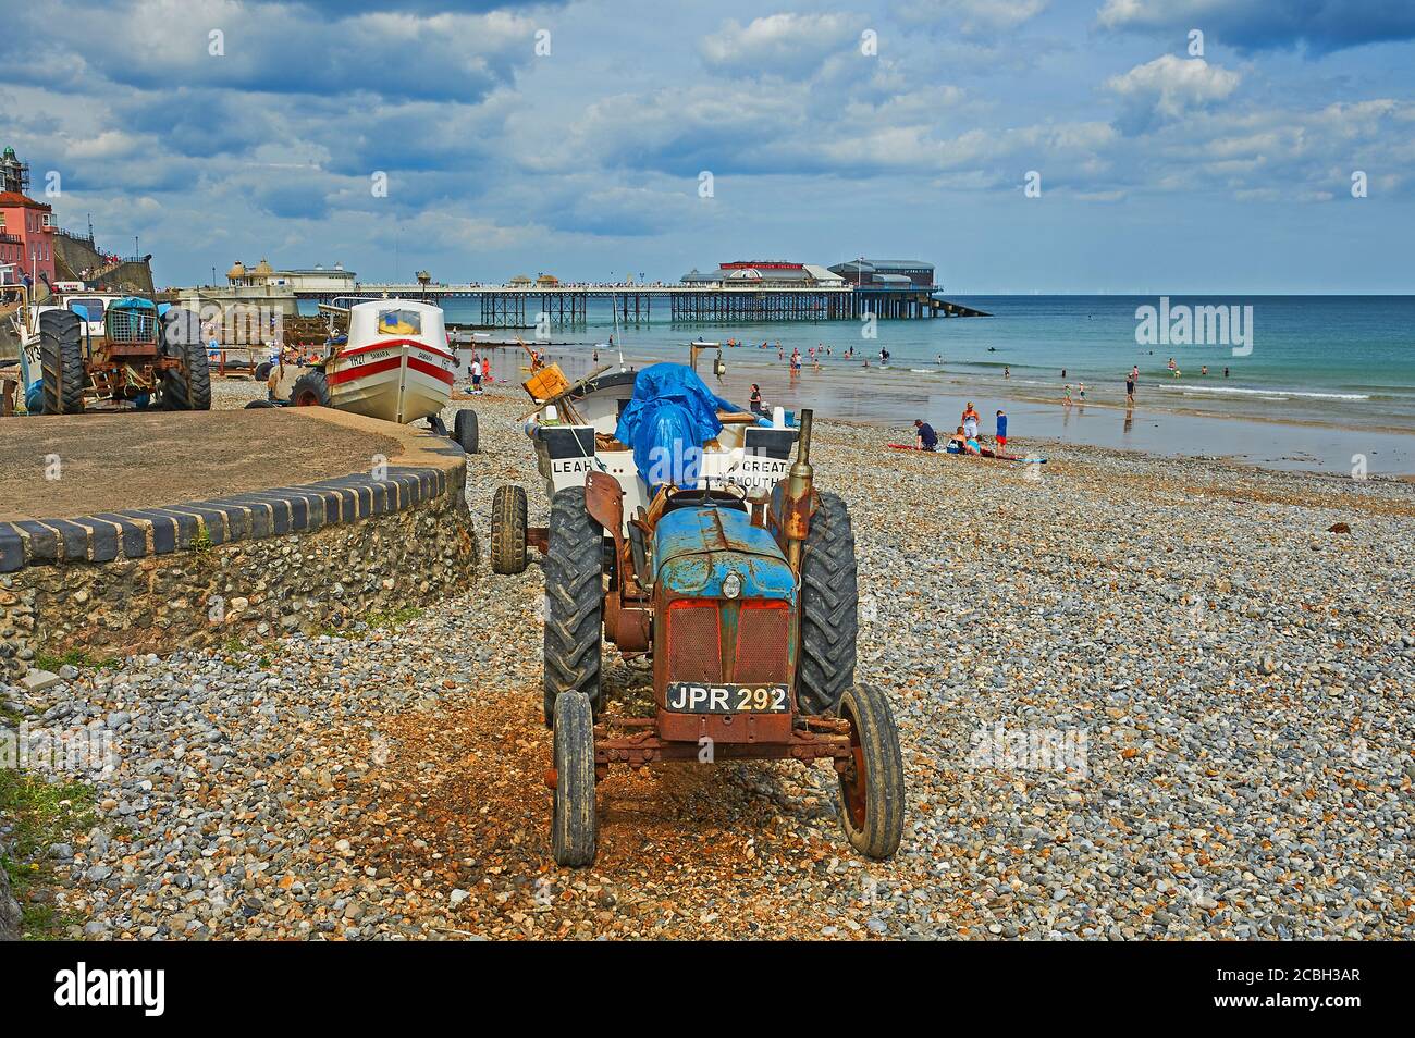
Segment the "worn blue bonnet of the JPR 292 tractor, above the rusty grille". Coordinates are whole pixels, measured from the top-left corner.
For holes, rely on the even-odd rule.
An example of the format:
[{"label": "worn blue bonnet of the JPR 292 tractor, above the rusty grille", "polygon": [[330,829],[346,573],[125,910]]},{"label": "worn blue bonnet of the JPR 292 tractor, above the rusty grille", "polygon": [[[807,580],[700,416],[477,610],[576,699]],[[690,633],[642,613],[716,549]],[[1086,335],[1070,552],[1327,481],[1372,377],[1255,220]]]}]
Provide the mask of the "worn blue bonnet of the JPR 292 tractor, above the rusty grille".
[{"label": "worn blue bonnet of the JPR 292 tractor, above the rusty grille", "polygon": [[666,598],[726,598],[727,574],[741,581],[737,600],[775,598],[795,607],[795,574],[775,539],[734,508],[683,506],[654,529],[655,584]]}]

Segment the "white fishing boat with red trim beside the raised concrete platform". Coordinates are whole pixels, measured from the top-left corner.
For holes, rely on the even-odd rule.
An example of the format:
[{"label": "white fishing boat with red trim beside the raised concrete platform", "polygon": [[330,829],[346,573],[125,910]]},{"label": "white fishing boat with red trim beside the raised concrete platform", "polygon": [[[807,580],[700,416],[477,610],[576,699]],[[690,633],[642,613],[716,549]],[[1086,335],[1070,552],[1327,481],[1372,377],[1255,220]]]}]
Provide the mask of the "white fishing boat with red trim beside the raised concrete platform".
[{"label": "white fishing boat with red trim beside the raised concrete platform", "polygon": [[296,379],[290,403],[406,424],[434,419],[447,406],[456,371],[440,307],[396,298],[358,303],[348,308],[348,339]]}]

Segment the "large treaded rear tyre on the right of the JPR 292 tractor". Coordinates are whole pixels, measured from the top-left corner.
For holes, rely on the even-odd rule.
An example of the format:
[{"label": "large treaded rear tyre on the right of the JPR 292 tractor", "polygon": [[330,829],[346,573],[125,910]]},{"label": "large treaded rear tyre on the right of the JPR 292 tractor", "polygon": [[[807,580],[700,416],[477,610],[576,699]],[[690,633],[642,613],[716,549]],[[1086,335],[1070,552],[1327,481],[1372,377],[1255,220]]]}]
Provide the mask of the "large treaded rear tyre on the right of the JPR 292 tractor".
[{"label": "large treaded rear tyre on the right of the JPR 292 tractor", "polygon": [[855,684],[859,635],[855,535],[838,494],[822,494],[801,546],[801,663],[797,703],[802,713],[825,714]]}]

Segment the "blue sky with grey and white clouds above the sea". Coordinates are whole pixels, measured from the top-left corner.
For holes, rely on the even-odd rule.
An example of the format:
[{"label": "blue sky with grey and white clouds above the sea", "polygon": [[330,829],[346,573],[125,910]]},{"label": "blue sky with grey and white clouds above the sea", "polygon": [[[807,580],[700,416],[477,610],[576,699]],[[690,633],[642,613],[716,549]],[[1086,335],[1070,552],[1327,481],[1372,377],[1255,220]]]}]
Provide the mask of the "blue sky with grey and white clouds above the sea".
[{"label": "blue sky with grey and white clouds above the sea", "polygon": [[1415,3],[7,3],[4,144],[166,284],[866,255],[958,294],[1407,293]]}]

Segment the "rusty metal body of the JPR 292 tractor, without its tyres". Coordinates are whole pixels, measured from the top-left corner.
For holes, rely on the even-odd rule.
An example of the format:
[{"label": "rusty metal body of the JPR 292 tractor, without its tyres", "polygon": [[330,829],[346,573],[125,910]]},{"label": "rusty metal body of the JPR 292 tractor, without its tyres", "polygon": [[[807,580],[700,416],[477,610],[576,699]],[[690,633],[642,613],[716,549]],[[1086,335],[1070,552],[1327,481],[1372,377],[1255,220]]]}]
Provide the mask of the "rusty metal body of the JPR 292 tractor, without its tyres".
[{"label": "rusty metal body of the JPR 292 tractor, without its tyres", "polygon": [[[855,768],[850,723],[804,716],[795,699],[801,544],[818,505],[809,421],[805,412],[798,460],[767,502],[669,488],[625,527],[617,479],[587,474],[586,508],[608,535],[606,556],[613,560],[606,638],[628,655],[651,652],[654,666],[655,716],[601,717],[594,728],[601,774],[611,764],[698,759],[709,742],[713,758],[831,758],[842,774]],[[784,684],[790,706],[771,713],[675,711],[666,704],[674,682]]]}]

